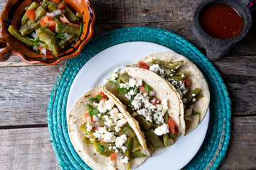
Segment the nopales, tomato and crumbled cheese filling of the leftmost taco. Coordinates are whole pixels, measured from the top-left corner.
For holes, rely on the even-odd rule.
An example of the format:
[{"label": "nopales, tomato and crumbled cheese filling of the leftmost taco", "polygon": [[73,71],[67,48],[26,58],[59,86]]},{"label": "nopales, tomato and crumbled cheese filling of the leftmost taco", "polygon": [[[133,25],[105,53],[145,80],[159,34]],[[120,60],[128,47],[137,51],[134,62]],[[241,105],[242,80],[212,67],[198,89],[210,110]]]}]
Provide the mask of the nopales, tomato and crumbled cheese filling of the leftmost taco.
[{"label": "nopales, tomato and crumbled cheese filling of the leftmost taco", "polygon": [[110,157],[110,161],[117,159],[119,154],[126,169],[131,166],[131,159],[146,157],[134,130],[113,100],[98,90],[89,99],[86,107],[87,111],[82,115],[84,123],[80,126],[80,130],[85,132],[83,142],[94,145],[96,152]]}]

